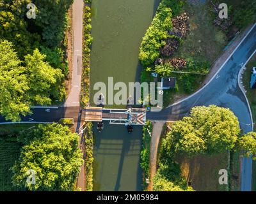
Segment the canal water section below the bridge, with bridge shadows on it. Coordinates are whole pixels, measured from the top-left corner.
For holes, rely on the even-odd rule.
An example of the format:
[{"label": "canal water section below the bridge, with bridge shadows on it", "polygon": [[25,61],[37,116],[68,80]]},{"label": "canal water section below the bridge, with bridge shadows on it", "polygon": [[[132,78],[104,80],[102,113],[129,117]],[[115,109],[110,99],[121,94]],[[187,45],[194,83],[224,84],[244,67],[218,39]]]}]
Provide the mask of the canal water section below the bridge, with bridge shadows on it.
[{"label": "canal water section below the bridge, with bridge shadows on it", "polygon": [[125,126],[104,124],[98,133],[94,124],[93,187],[95,191],[141,191],[140,150],[142,128],[127,133]]}]

